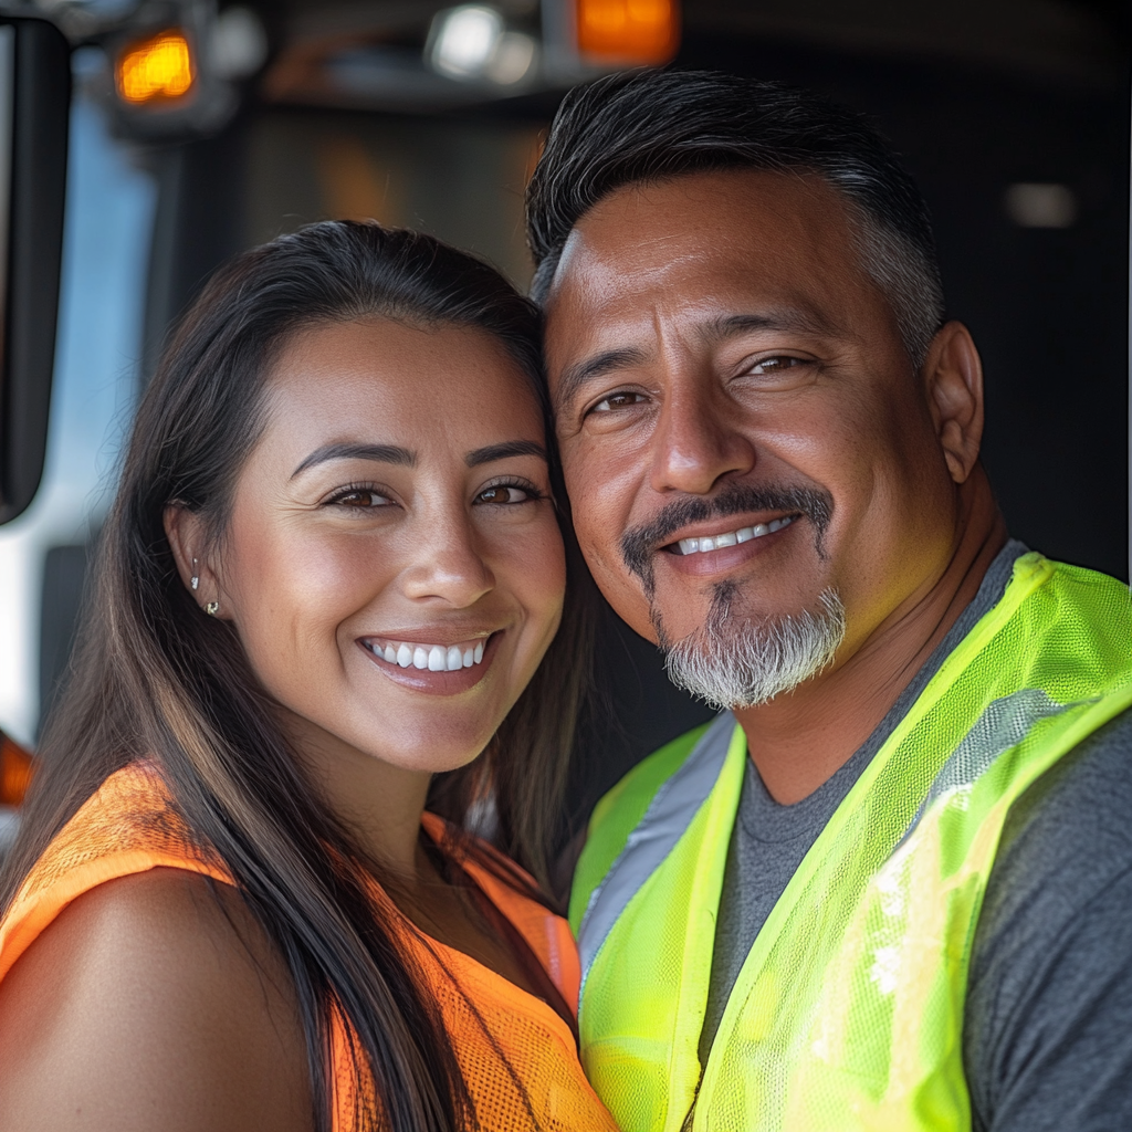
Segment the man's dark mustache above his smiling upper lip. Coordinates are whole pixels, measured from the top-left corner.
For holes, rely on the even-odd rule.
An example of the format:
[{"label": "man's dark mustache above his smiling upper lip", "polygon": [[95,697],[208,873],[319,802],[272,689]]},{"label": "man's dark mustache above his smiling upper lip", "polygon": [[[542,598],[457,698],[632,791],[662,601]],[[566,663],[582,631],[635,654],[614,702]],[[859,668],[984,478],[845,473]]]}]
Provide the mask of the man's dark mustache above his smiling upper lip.
[{"label": "man's dark mustache above his smiling upper lip", "polygon": [[651,592],[652,556],[670,542],[681,526],[749,511],[788,511],[805,515],[817,532],[821,554],[822,537],[833,517],[833,496],[820,488],[779,483],[732,483],[712,496],[687,496],[670,503],[651,523],[626,531],[621,535],[621,558],[626,567],[644,582],[645,590]]}]

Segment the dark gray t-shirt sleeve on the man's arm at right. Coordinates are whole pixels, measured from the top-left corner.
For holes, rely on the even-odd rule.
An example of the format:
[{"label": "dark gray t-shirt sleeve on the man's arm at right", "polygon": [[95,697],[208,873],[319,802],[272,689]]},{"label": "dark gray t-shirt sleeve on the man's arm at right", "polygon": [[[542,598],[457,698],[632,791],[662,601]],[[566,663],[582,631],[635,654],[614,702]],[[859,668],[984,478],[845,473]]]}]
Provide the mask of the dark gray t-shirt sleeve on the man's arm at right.
[{"label": "dark gray t-shirt sleeve on the man's arm at right", "polygon": [[1132,1129],[1132,712],[1007,820],[963,1054],[976,1132]]}]

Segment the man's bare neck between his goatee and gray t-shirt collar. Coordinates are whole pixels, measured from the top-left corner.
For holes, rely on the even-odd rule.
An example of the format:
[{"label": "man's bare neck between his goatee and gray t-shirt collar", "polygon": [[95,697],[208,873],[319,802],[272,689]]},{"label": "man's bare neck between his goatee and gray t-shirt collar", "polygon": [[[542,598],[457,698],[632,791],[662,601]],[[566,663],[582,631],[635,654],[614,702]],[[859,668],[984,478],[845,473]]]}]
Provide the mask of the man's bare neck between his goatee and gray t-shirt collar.
[{"label": "man's bare neck between his goatee and gray t-shirt collar", "polygon": [[800,801],[844,765],[978,593],[1006,542],[1006,526],[981,469],[972,480],[961,492],[951,559],[921,598],[882,621],[831,671],[767,704],[736,711],[775,801]]}]

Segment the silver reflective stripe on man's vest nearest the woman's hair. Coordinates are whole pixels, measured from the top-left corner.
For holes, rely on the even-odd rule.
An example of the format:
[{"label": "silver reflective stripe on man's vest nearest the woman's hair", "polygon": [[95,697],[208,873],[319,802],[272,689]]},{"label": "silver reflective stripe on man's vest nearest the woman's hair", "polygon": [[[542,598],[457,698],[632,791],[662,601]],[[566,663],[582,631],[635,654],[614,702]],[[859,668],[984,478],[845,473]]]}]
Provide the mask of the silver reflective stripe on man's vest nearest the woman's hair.
[{"label": "silver reflective stripe on man's vest nearest the woman's hair", "polygon": [[593,960],[618,917],[672,851],[711,794],[737,726],[735,717],[723,712],[704,731],[680,769],[661,783],[606,878],[590,894],[577,941],[583,988]]}]

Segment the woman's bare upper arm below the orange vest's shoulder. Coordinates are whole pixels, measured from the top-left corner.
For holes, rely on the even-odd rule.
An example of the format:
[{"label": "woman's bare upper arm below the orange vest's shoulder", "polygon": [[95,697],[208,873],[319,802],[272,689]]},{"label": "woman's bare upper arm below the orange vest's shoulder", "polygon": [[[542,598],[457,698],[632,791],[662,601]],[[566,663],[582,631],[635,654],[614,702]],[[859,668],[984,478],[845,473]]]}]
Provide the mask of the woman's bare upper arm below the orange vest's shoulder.
[{"label": "woman's bare upper arm below the orange vest's shoulder", "polygon": [[290,978],[218,895],[154,869],[35,941],[0,984],[0,1132],[310,1132]]}]

